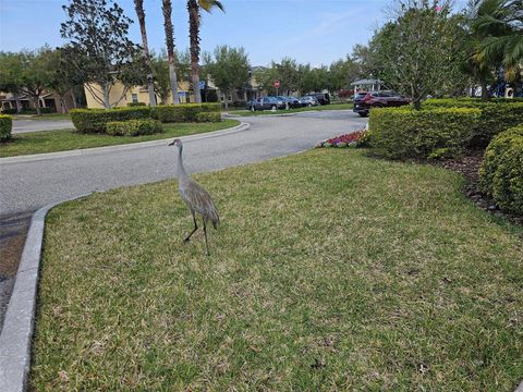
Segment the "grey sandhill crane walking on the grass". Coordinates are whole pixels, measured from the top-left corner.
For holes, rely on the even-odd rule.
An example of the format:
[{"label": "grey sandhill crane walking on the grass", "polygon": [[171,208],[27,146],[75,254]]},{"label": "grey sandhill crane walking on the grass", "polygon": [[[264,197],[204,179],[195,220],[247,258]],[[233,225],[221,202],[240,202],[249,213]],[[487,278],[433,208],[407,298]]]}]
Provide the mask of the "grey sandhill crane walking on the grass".
[{"label": "grey sandhill crane walking on the grass", "polygon": [[188,242],[191,236],[198,230],[198,225],[196,224],[196,215],[198,212],[202,216],[202,221],[204,222],[204,234],[205,234],[205,249],[207,250],[207,256],[210,255],[209,253],[209,245],[207,242],[207,221],[210,221],[215,229],[218,228],[220,223],[220,217],[218,216],[218,210],[215,207],[215,203],[210,197],[209,193],[205,191],[198,183],[192,180],[187,173],[185,172],[185,168],[183,167],[183,159],[182,159],[182,150],[183,145],[182,140],[174,139],[172,143],[169,143],[169,146],[177,146],[178,147],[178,192],[180,193],[180,197],[185,203],[187,208],[191,210],[191,215],[193,216],[194,221],[194,229],[191,234],[184,240],[184,242]]}]

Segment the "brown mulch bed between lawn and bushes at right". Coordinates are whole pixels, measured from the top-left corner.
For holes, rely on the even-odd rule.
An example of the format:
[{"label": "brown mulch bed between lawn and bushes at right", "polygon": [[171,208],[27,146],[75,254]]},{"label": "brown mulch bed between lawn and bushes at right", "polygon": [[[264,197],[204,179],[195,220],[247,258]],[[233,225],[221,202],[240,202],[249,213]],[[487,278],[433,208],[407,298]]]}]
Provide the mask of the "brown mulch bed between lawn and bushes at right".
[{"label": "brown mulch bed between lawn and bushes at right", "polygon": [[506,218],[515,224],[523,225],[522,216],[500,210],[490,198],[479,191],[478,171],[483,162],[484,152],[484,150],[469,150],[465,156],[460,159],[445,159],[441,161],[433,161],[431,163],[463,174],[467,180],[463,191],[477,207],[497,217]]}]

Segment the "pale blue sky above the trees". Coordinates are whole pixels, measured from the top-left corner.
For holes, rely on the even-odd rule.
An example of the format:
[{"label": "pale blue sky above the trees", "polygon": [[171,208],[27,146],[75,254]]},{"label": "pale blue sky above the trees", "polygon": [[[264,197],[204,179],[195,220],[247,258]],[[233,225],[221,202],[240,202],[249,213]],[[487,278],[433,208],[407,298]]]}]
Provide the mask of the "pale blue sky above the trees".
[{"label": "pale blue sky above the trees", "polygon": [[[226,12],[203,15],[202,49],[218,45],[243,47],[252,65],[268,65],[291,57],[314,66],[330,64],[366,44],[386,19],[393,0],[222,0]],[[68,0],[0,0],[0,50],[36,49],[64,44],[60,23]],[[130,36],[141,42],[132,0],[117,0],[135,23]],[[149,48],[165,47],[161,0],[145,0]],[[173,0],[172,21],[178,49],[188,47],[185,1]]]}]

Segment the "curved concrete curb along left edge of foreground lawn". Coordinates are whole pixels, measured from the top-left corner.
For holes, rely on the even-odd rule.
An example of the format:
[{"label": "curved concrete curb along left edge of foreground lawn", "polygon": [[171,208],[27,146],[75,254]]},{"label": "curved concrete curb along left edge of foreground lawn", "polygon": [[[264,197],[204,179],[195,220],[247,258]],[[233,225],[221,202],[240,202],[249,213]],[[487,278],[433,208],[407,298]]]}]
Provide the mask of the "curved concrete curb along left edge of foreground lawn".
[{"label": "curved concrete curb along left edge of foreground lawn", "polygon": [[38,272],[47,212],[59,204],[88,195],[90,194],[47,205],[37,210],[31,219],[16,281],[0,334],[0,391],[22,392],[27,389]]}]

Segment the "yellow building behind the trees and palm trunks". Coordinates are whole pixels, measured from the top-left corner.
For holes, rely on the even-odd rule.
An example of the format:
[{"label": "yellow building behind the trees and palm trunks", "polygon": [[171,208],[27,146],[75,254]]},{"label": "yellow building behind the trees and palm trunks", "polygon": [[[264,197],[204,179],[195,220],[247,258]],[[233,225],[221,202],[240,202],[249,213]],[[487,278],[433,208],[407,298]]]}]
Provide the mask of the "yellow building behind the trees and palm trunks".
[{"label": "yellow building behind the trees and palm trunks", "polygon": [[[180,82],[178,84],[178,95],[181,103],[194,102],[194,96],[190,94],[188,82]],[[85,98],[87,100],[87,108],[104,109],[102,90],[96,84],[88,84],[84,86]],[[95,97],[96,95],[96,97]],[[157,103],[160,105],[160,98],[156,96]],[[117,82],[109,93],[109,102],[112,108],[124,108],[127,103],[144,102],[149,105],[149,94],[147,86],[134,86],[129,88],[124,94],[124,86]],[[172,103],[172,97],[169,95],[167,103]]]}]

